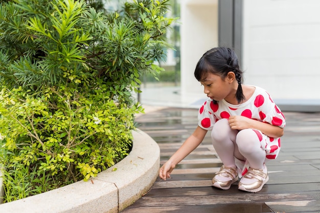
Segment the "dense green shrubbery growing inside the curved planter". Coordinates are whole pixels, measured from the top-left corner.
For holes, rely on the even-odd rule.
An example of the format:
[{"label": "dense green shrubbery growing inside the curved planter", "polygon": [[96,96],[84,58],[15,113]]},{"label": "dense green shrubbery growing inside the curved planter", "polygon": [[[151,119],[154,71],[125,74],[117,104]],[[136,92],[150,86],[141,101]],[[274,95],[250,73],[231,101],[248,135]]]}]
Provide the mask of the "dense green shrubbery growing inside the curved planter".
[{"label": "dense green shrubbery growing inside the curved planter", "polygon": [[163,70],[168,1],[97,12],[85,1],[0,4],[0,133],[5,202],[100,171],[131,148],[131,97]]}]

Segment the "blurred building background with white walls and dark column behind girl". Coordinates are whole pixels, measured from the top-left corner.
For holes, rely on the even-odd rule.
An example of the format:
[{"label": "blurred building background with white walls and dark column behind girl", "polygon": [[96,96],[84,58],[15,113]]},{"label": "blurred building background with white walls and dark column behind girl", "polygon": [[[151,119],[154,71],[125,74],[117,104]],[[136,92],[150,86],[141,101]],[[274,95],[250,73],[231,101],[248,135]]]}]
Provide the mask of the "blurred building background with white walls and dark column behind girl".
[{"label": "blurred building background with white walls and dark column behind girl", "polygon": [[[106,0],[117,9],[122,1]],[[202,54],[233,48],[244,83],[266,89],[283,111],[320,111],[320,1],[170,0],[165,71],[143,77],[142,104],[197,108],[207,97],[193,76]]]}]

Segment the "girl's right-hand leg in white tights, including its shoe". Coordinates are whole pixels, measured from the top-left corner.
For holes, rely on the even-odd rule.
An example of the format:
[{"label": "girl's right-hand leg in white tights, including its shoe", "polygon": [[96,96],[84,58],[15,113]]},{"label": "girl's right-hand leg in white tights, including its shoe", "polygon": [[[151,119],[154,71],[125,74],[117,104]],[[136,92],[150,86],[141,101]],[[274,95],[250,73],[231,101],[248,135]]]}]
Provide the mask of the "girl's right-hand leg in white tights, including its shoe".
[{"label": "girl's right-hand leg in white tights, including its shoe", "polygon": [[239,190],[259,192],[269,180],[264,164],[266,152],[261,147],[262,135],[253,129],[241,130],[236,137],[239,152],[247,159],[250,168],[239,182]]}]

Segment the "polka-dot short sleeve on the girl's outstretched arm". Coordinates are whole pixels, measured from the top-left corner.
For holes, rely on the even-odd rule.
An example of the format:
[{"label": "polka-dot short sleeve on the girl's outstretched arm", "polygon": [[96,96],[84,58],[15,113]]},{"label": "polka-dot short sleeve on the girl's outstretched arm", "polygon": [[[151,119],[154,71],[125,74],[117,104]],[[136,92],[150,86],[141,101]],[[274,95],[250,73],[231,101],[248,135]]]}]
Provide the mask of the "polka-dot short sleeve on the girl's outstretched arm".
[{"label": "polka-dot short sleeve on the girl's outstretched arm", "polygon": [[212,130],[215,124],[215,116],[210,110],[211,100],[205,101],[198,111],[198,125],[204,130]]}]

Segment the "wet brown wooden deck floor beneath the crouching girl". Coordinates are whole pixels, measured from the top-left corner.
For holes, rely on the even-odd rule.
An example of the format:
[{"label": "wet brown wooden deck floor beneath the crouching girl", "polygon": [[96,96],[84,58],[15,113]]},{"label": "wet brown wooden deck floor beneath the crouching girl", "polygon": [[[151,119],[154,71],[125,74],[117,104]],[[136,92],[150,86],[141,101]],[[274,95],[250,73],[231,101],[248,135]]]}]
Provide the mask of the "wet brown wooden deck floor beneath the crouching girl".
[{"label": "wet brown wooden deck floor beneath the crouching girl", "polygon": [[[259,193],[211,186],[221,166],[207,134],[166,181],[122,212],[320,212],[320,113],[284,112],[287,125],[279,157],[267,163],[269,181]],[[142,115],[139,128],[157,141],[164,163],[193,132],[196,109],[167,108]]]}]

